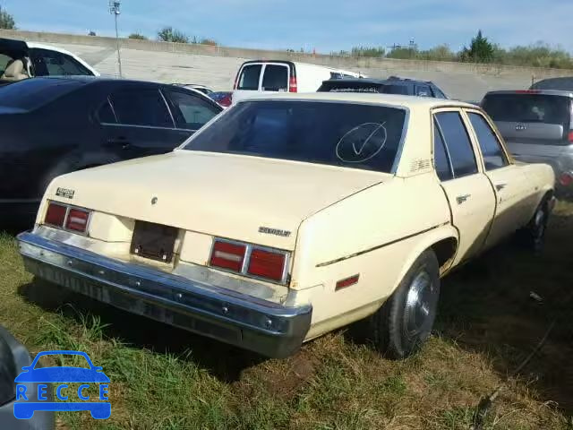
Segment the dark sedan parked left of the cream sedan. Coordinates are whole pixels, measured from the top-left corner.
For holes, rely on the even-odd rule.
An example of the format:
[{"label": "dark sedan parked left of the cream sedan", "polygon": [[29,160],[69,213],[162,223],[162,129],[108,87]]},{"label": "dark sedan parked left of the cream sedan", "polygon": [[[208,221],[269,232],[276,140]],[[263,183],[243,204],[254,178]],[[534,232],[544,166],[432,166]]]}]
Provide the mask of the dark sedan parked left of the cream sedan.
[{"label": "dark sedan parked left of the cream sedan", "polygon": [[0,87],[0,223],[33,219],[54,177],[173,150],[221,110],[154,82],[46,77]]}]

